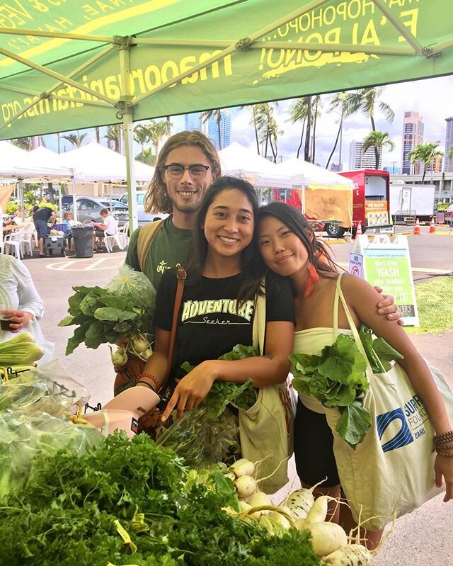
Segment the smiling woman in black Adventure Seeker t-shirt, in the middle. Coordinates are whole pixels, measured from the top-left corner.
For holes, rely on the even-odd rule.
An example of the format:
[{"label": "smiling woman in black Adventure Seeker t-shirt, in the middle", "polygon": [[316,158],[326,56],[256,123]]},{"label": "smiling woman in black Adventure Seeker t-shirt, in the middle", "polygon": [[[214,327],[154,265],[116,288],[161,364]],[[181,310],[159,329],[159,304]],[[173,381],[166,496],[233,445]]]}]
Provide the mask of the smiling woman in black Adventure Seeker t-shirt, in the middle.
[{"label": "smiling woman in black Adventure Seeker t-shirt, in the middle", "polygon": [[[188,189],[189,191],[189,189]],[[190,189],[192,191],[192,189]],[[190,192],[189,191],[189,192]],[[189,198],[189,195],[188,195]],[[294,297],[285,278],[265,278],[265,355],[242,360],[217,358],[236,344],[253,344],[252,326],[256,294],[260,292],[264,266],[254,235],[258,199],[247,181],[224,176],[208,188],[197,215],[188,281],[178,313],[176,354],[170,380],[176,383],[162,415],[197,407],[214,380],[256,387],[283,383],[289,371],[294,339]],[[157,390],[168,373],[176,275],[168,272],[156,298],[154,353],[147,361],[138,387]],[[196,366],[183,375],[180,363]]]}]

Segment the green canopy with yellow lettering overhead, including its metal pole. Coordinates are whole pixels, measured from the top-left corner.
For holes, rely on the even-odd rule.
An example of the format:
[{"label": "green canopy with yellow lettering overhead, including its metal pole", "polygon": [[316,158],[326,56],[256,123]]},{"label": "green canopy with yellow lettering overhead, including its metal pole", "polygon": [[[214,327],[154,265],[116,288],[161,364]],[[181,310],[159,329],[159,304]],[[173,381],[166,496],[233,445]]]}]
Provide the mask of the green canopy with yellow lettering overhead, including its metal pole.
[{"label": "green canopy with yellow lettering overhead, including its metal pole", "polygon": [[[0,139],[453,72],[451,0],[0,1]],[[131,225],[137,225],[135,198]]]}]

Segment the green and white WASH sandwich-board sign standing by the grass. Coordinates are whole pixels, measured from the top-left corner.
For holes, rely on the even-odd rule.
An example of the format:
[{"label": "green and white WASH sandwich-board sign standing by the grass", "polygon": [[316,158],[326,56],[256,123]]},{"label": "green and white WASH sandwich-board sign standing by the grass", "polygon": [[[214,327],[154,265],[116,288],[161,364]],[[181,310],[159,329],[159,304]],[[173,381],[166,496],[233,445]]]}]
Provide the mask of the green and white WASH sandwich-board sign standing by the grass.
[{"label": "green and white WASH sandwich-board sign standing by the grass", "polygon": [[376,236],[373,242],[365,234],[357,237],[350,254],[349,272],[394,295],[404,324],[419,325],[406,236],[397,236],[394,242],[388,236]]}]

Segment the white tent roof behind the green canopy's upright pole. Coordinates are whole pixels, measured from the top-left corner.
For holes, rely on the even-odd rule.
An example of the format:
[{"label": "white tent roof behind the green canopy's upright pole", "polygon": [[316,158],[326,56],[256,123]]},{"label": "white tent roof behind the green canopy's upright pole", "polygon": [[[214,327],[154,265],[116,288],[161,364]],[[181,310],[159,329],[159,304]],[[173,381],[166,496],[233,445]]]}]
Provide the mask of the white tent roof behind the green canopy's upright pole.
[{"label": "white tent roof behind the green canopy's upright pole", "polygon": [[[113,183],[126,181],[126,158],[97,142],[91,142],[70,152],[59,154],[59,164],[74,170],[75,181]],[[135,160],[135,179],[149,182],[154,167]]]}]

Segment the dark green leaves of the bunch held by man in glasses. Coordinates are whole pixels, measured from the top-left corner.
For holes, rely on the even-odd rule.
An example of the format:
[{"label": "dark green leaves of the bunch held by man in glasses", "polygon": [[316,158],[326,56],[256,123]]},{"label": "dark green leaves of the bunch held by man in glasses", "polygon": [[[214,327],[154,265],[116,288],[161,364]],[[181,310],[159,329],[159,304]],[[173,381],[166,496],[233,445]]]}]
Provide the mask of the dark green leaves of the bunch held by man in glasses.
[{"label": "dark green leaves of the bunch held by man in glasses", "polygon": [[102,287],[73,287],[76,292],[69,297],[69,315],[59,322],[59,327],[76,325],[74,335],[68,340],[66,355],[79,344],[96,349],[101,344],[115,344],[125,334],[143,330],[149,332],[154,316],[154,297],[144,293],[120,294]]}]

